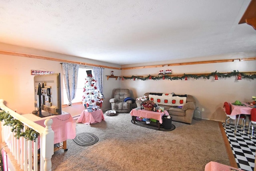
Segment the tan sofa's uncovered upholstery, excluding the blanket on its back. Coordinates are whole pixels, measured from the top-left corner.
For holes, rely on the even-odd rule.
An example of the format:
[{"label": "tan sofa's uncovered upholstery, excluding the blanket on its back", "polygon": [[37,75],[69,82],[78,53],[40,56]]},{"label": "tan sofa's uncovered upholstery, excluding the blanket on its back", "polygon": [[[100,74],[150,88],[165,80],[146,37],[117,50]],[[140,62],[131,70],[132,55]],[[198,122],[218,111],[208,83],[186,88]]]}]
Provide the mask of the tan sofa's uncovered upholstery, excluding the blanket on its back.
[{"label": "tan sofa's uncovered upholstery, excluding the blanket on its back", "polygon": [[[149,93],[145,93],[149,97]],[[148,99],[147,99],[148,100]],[[137,107],[140,107],[145,101],[136,100]],[[194,110],[196,108],[196,100],[192,95],[187,95],[186,103],[182,108],[176,108],[171,105],[158,105],[164,107],[164,110],[168,111],[169,115],[172,116],[173,121],[184,122],[190,124],[192,122]]]}]

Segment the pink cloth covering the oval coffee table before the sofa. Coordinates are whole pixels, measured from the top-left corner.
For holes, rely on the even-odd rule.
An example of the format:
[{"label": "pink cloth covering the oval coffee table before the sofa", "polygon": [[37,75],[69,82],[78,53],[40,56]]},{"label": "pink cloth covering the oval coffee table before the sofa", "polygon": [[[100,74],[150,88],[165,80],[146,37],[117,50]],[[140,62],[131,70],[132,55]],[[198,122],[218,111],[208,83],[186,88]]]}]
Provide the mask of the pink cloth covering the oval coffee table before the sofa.
[{"label": "pink cloth covering the oval coffee table before the sofa", "polygon": [[150,119],[156,119],[159,121],[159,123],[163,123],[162,116],[163,115],[169,115],[168,111],[164,110],[164,112],[157,112],[157,111],[148,111],[145,109],[132,109],[130,111],[131,116],[138,116],[138,117],[144,117],[144,118],[150,118]]}]

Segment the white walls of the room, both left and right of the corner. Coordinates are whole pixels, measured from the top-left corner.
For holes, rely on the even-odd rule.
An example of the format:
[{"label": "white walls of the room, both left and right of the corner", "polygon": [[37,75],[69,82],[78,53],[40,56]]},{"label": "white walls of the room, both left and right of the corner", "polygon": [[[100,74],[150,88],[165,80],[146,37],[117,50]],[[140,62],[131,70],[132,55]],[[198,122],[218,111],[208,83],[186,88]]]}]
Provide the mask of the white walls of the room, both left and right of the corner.
[{"label": "white walls of the room, both left and right of the corner", "polygon": [[[118,65],[98,62],[94,60],[87,60],[84,58],[66,56],[52,52],[44,52],[32,50],[29,48],[22,48],[18,46],[11,46],[7,44],[0,44],[0,50],[11,52],[20,52],[27,54],[34,54],[40,56],[47,56],[52,58],[60,58],[72,60],[76,62],[88,62],[91,64],[99,64],[104,66],[112,66],[120,68]],[[207,57],[207,60],[219,59],[236,59],[254,57],[256,54],[228,54],[225,56]],[[61,73],[60,62],[39,60],[34,58],[26,58],[19,56],[8,56],[0,54],[0,99],[4,99],[6,105],[18,113],[30,113],[34,110],[34,76],[30,75],[30,70],[48,70],[55,73]],[[203,61],[204,58],[189,58],[181,60],[166,61],[165,64]],[[163,62],[147,63],[147,64],[131,64],[122,66],[146,66],[163,64]],[[113,70],[115,76],[132,76],[132,75],[156,75],[159,70],[171,69],[173,74],[194,74],[194,73],[211,73],[211,72],[232,72],[238,70],[240,72],[256,71],[256,61],[239,62],[225,62],[215,64],[197,64],[186,66],[164,66],[161,68],[147,68],[138,70]],[[146,92],[164,92],[177,94],[190,94],[196,99],[197,106],[205,111],[202,112],[202,117],[205,119],[223,121],[225,115],[222,111],[224,101],[252,101],[252,95],[256,95],[256,79],[242,79],[236,80],[232,78],[214,78],[207,79],[191,79],[184,80],[124,80],[120,78],[115,80],[106,75],[110,75],[112,69],[104,69],[103,94],[106,97],[102,104],[102,109],[107,110],[111,108],[109,99],[112,98],[113,90],[116,88],[128,88],[131,91],[131,97],[138,97]],[[62,85],[63,87],[63,85]],[[63,92],[62,92],[63,93]],[[78,111],[79,112],[79,111]],[[80,114],[80,113],[77,113]]]}]

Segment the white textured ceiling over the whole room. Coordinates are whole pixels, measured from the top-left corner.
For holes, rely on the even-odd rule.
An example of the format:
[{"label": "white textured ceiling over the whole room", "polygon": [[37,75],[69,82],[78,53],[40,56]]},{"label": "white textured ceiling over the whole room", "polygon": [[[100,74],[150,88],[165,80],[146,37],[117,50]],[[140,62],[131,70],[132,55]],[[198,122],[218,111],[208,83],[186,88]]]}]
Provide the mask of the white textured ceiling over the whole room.
[{"label": "white textured ceiling over the whole room", "polygon": [[0,42],[114,64],[256,52],[250,0],[0,0]]}]

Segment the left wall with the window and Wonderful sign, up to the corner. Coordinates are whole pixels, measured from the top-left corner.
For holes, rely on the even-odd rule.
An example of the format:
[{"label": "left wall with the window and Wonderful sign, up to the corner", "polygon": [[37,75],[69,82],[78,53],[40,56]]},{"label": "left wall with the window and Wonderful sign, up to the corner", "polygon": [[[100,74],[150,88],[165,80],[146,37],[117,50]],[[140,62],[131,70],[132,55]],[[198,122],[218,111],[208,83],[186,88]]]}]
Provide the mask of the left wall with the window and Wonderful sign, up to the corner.
[{"label": "left wall with the window and Wonderful sign, up to the corner", "polygon": [[[71,57],[52,52],[32,50],[18,46],[11,46],[8,44],[0,44],[0,50],[120,68],[119,65],[87,60],[84,58]],[[6,106],[12,110],[17,110],[17,112],[20,114],[31,113],[34,110],[34,76],[30,74],[31,70],[43,70],[53,71],[54,73],[62,73],[61,64],[60,62],[56,61],[1,54],[0,60],[0,99],[4,99]],[[112,90],[121,87],[120,81],[118,80],[116,81],[115,79],[109,79],[107,81],[106,75],[110,75],[111,71],[112,69],[104,69],[103,93],[106,99],[103,101],[102,110],[111,108],[109,99],[112,97]],[[120,70],[114,70],[115,75],[120,75],[120,72]],[[85,76],[87,76],[86,73]],[[62,85],[62,87],[64,86]],[[63,108],[63,110],[65,108]],[[75,114],[80,114],[81,112]]]}]

